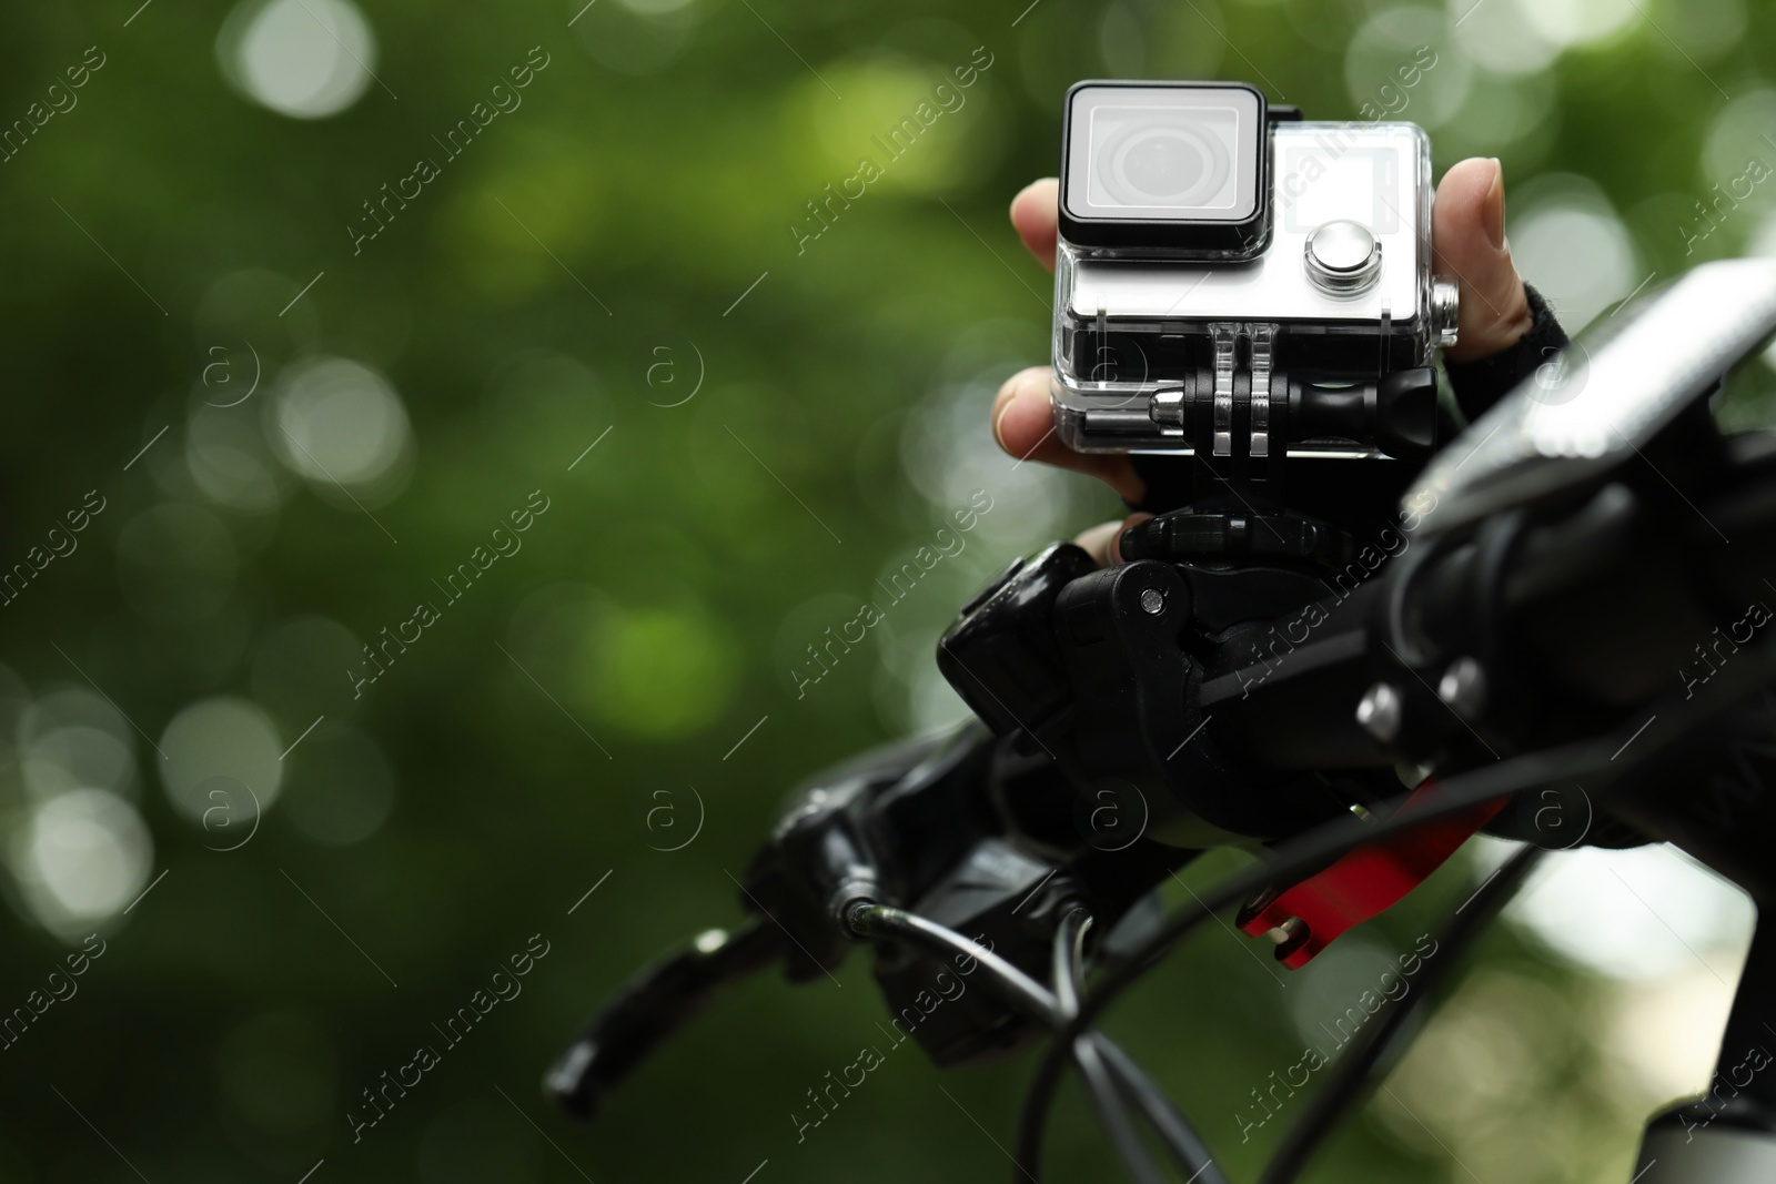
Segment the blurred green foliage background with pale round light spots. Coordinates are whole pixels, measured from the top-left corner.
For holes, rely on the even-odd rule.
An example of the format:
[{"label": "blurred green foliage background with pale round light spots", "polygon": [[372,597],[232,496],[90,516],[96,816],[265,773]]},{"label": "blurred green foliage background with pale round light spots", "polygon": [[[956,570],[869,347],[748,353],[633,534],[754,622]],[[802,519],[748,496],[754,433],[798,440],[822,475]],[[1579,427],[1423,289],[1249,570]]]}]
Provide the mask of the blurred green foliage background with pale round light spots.
[{"label": "blurred green foliage background with pale round light spots", "polygon": [[[1003,209],[1073,80],[1243,78],[1415,119],[1439,172],[1499,156],[1570,327],[1776,249],[1748,0],[1025,4],[11,7],[0,1008],[30,1022],[0,1179],[1012,1170],[1028,1058],[892,1054],[797,1145],[805,1090],[876,1040],[863,959],[733,991],[591,1129],[536,1081],[634,966],[739,916],[789,786],[959,717],[929,655],[975,588],[1115,513],[986,424],[1046,360]],[[1723,414],[1767,419],[1767,378]],[[975,490],[966,547],[797,687]],[[1250,1092],[1497,857],[1286,978],[1209,928],[1110,1030],[1252,1179],[1293,1115],[1241,1141]],[[1700,1090],[1748,905],[1668,850],[1556,863],[1309,1179],[1620,1182]],[[533,935],[522,996],[353,1141],[361,1090]],[[1071,1086],[1050,1156],[1115,1179]]]}]

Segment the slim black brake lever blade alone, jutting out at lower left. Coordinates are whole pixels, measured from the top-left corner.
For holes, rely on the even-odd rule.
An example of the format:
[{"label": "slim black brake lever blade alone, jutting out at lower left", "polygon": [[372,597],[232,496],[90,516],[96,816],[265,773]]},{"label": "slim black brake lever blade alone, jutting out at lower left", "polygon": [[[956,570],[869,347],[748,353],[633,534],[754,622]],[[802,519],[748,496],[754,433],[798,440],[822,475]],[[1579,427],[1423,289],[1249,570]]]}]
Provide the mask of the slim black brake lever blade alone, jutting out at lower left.
[{"label": "slim black brake lever blade alone, jutting out at lower left", "polygon": [[712,928],[638,971],[543,1076],[543,1092],[583,1122],[655,1047],[698,1015],[726,983],[783,957],[783,934],[753,918],[732,934]]}]

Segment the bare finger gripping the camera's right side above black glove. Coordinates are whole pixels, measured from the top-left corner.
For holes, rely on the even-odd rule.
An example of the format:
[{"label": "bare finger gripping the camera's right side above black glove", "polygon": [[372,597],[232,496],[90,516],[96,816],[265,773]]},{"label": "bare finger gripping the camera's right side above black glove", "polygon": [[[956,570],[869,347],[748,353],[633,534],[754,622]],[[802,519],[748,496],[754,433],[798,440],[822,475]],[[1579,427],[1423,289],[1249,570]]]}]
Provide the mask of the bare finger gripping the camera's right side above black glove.
[{"label": "bare finger gripping the camera's right side above black glove", "polygon": [[1444,359],[1476,362],[1517,344],[1531,314],[1504,241],[1504,169],[1497,160],[1463,160],[1444,174],[1431,206],[1431,247],[1437,273],[1462,284],[1460,334]]}]

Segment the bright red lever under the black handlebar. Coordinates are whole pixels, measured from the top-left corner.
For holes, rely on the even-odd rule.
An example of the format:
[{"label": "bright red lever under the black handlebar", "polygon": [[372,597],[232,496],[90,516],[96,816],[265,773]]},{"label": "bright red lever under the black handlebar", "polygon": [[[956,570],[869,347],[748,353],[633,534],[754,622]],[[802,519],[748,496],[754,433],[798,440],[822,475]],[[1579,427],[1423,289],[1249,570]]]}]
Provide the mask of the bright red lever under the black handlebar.
[{"label": "bright red lever under the black handlebar", "polygon": [[[1435,793],[1435,783],[1423,781],[1399,806],[1399,815],[1423,809]],[[1359,847],[1268,902],[1259,898],[1249,904],[1240,911],[1238,925],[1252,937],[1280,928],[1286,937],[1277,946],[1277,960],[1298,971],[1346,928],[1368,921],[1417,888],[1504,809],[1504,797],[1481,802],[1442,822]]]}]

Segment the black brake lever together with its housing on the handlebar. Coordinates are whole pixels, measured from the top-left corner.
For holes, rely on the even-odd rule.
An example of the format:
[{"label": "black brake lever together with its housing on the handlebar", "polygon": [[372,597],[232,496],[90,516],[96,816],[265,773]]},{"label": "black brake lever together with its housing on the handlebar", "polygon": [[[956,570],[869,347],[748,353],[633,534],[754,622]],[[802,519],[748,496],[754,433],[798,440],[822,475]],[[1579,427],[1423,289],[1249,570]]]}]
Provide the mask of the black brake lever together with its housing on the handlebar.
[{"label": "black brake lever together with its housing on the handlebar", "polygon": [[[998,793],[1019,808],[1000,813]],[[751,920],[733,935],[710,930],[630,978],[545,1074],[545,1092],[568,1115],[590,1120],[600,1095],[702,1012],[716,989],[771,964],[792,983],[812,982],[838,969],[858,944],[874,948],[893,1022],[936,1065],[979,1063],[1018,1047],[1039,1035],[1023,1012],[991,992],[963,998],[964,983],[945,976],[943,960],[865,937],[845,918],[860,904],[906,907],[1039,976],[1058,904],[1078,896],[1101,918],[1108,950],[1114,923],[1144,898],[1151,905],[1153,886],[1193,852],[1138,834],[1103,850],[1074,836],[1080,850],[1057,850],[1076,825],[1074,804],[1074,790],[1046,763],[1011,756],[1007,742],[979,726],[826,770],[790,797],[741,877]],[[1121,829],[1090,833],[1106,841]]]}]

